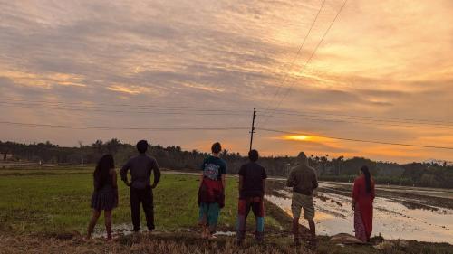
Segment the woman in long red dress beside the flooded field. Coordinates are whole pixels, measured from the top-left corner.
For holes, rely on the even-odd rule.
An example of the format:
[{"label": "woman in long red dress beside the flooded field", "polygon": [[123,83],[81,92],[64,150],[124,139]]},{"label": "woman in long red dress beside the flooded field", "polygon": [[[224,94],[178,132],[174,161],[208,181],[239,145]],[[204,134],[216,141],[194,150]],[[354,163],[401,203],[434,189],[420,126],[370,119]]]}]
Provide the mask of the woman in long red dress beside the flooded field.
[{"label": "woman in long red dress beside the flooded field", "polygon": [[364,165],[361,167],[361,176],[354,181],[352,190],[355,237],[363,242],[370,241],[374,196],[374,181],[371,179],[370,170]]}]

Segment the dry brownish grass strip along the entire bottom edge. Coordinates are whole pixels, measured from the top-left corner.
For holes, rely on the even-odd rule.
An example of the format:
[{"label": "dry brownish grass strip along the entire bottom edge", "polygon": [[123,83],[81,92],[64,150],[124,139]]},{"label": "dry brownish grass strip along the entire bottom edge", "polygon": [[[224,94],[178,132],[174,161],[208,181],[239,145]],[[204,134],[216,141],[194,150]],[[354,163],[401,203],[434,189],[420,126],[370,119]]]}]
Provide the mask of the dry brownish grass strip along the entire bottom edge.
[{"label": "dry brownish grass strip along the entire bottom edge", "polygon": [[219,237],[217,240],[202,240],[195,232],[167,232],[152,235],[137,234],[122,236],[111,242],[90,240],[85,242],[77,234],[63,235],[1,235],[0,253],[149,253],[149,254],[451,254],[448,244],[409,241],[400,246],[398,240],[388,241],[389,247],[374,249],[366,245],[338,246],[327,237],[320,237],[315,252],[302,247],[295,248],[287,236],[268,234],[265,244],[256,244],[248,238],[237,247],[234,238]]}]

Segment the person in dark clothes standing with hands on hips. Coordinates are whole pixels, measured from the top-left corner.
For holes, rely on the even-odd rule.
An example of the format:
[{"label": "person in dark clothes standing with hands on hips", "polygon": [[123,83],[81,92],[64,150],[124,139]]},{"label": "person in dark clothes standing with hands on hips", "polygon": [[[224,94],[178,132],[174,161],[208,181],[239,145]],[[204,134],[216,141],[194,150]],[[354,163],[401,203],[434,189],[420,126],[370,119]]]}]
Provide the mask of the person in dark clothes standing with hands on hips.
[{"label": "person in dark clothes standing with hands on hips", "polygon": [[[140,155],[131,158],[120,171],[121,180],[130,186],[130,213],[135,232],[140,230],[140,203],[146,215],[148,230],[152,231],[155,228],[152,189],[156,188],[160,181],[160,169],[156,159],[146,155],[148,146],[146,140],[140,140],[137,143]],[[128,181],[129,170],[131,182]],[[154,173],[152,185],[150,184],[151,172]]]}]

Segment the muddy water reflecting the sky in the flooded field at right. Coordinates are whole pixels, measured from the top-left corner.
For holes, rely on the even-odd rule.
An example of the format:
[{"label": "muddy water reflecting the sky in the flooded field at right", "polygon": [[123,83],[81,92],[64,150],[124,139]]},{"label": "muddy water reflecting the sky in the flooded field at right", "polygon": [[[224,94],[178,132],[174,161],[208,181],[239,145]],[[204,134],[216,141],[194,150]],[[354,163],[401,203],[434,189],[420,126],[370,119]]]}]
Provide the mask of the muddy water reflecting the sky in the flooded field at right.
[{"label": "muddy water reflecting the sky in the flooded field at right", "polygon": [[[348,192],[330,192],[335,183],[321,184],[315,202],[315,221],[318,234],[333,235],[337,233],[353,234],[353,212],[351,198]],[[332,189],[334,190],[334,189]],[[394,196],[378,197],[374,203],[374,219],[372,235],[382,235],[386,239],[420,240],[431,242],[448,242],[453,244],[453,210],[436,205],[423,204],[419,200],[407,200],[399,196],[401,190]],[[443,196],[443,193],[441,193]],[[291,193],[279,190],[277,195],[267,196],[267,199],[291,215]],[[408,205],[420,203],[423,205]],[[451,200],[453,202],[453,200]],[[306,225],[306,221],[301,220]]]}]

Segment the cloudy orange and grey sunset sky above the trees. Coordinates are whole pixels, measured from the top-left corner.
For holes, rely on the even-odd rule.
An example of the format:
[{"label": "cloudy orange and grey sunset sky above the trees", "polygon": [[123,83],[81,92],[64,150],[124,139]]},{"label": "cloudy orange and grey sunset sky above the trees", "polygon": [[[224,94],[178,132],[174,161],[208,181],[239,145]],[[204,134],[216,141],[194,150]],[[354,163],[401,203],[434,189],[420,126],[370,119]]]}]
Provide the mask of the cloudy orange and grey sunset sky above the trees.
[{"label": "cloudy orange and grey sunset sky above the trees", "polygon": [[328,138],[453,146],[453,2],[342,4],[0,0],[0,140],[453,160]]}]

